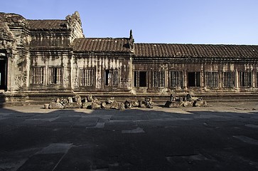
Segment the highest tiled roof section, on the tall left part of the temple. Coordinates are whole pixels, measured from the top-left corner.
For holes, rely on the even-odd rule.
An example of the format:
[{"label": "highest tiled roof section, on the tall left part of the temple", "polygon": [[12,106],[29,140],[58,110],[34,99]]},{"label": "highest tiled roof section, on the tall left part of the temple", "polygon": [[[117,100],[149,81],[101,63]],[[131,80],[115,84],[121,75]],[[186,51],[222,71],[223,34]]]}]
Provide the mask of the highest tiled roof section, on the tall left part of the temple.
[{"label": "highest tiled roof section, on the tall left part of the temple", "polygon": [[65,20],[27,20],[28,28],[31,30],[67,30],[68,24]]}]

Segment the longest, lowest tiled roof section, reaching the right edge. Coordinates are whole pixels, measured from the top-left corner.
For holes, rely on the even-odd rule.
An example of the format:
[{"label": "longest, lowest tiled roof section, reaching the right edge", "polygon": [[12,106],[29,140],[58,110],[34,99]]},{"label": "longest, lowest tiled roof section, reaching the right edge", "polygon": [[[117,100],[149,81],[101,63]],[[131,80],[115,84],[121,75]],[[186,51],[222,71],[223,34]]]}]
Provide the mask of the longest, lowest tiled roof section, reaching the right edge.
[{"label": "longest, lowest tiled roof section, reaching the right edge", "polygon": [[141,57],[218,57],[258,58],[258,46],[135,43],[135,55]]}]

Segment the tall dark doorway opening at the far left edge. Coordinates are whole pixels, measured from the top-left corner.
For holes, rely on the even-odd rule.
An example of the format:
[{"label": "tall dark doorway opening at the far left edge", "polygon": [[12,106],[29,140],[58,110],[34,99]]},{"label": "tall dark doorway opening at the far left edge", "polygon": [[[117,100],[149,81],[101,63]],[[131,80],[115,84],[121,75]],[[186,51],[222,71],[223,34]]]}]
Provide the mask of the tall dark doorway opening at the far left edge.
[{"label": "tall dark doorway opening at the far left edge", "polygon": [[7,59],[0,56],[0,90],[7,89]]}]

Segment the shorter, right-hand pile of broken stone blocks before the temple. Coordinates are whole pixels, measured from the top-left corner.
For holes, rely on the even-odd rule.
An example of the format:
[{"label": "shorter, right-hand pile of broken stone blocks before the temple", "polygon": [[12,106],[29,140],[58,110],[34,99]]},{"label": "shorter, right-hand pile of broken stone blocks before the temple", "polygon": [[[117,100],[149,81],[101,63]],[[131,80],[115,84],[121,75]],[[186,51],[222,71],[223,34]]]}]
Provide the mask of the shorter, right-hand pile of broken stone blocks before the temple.
[{"label": "shorter, right-hand pile of broken stone blocks before the temple", "polygon": [[203,100],[203,98],[195,98],[192,95],[187,94],[183,98],[179,98],[175,95],[171,95],[170,100],[166,101],[166,108],[179,108],[179,107],[205,107],[207,106],[207,102]]}]

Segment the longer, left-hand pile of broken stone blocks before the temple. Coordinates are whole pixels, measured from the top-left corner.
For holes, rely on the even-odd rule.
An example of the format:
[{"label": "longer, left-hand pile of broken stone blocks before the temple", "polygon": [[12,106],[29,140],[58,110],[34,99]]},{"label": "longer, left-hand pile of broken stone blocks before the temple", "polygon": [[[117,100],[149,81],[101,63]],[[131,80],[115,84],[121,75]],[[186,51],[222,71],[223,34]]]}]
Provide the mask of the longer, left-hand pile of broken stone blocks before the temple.
[{"label": "longer, left-hand pile of broken stone blocks before the temple", "polygon": [[63,109],[63,108],[87,108],[87,109],[117,109],[124,110],[124,108],[153,108],[154,102],[151,98],[144,100],[130,101],[126,100],[124,103],[119,103],[114,98],[107,98],[104,102],[100,102],[96,97],[88,95],[86,98],[81,98],[80,95],[75,97],[56,99],[55,102],[45,104],[44,108]]}]

